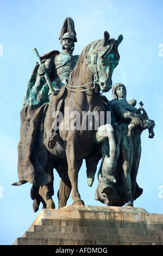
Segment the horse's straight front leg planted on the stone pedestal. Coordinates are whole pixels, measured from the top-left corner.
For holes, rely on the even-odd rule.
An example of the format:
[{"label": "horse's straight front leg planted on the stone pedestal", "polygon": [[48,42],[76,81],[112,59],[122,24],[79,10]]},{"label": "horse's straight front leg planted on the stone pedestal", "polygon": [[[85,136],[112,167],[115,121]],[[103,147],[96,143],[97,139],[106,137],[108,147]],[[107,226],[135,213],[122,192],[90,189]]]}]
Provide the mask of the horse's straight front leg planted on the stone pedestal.
[{"label": "horse's straight front leg planted on the stone pedestal", "polygon": [[76,161],[73,139],[66,141],[66,157],[68,163],[68,177],[72,186],[72,199],[74,205],[84,205],[78,192],[78,164]]}]

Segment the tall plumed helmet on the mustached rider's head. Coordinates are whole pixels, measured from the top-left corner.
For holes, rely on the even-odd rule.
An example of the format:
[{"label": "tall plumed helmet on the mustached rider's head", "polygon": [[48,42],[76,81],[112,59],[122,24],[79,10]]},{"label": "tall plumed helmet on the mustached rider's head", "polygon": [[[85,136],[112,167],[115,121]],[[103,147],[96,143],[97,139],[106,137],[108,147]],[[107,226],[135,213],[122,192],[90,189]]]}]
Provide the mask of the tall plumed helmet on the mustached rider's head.
[{"label": "tall plumed helmet on the mustached rider's head", "polygon": [[64,38],[71,38],[73,42],[77,42],[76,31],[74,29],[74,21],[71,17],[67,17],[62,25],[59,40]]}]

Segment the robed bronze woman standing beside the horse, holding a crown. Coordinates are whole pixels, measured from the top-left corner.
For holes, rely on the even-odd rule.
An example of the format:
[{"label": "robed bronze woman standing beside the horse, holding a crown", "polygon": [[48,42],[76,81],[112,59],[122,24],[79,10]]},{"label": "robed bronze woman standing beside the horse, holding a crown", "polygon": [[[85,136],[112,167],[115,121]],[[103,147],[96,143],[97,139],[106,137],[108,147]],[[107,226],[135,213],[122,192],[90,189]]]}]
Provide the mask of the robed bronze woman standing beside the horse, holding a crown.
[{"label": "robed bronze woman standing beside the horse, holding a crown", "polygon": [[[126,206],[133,206],[133,201],[142,193],[142,188],[136,183],[136,175],[141,156],[140,136],[144,130],[143,120],[141,113],[135,113],[135,100],[127,102],[126,93],[126,87],[122,83],[116,83],[112,87],[114,99],[108,102],[107,111],[111,111],[117,154],[112,166],[108,164],[108,144],[103,143],[102,151],[106,157],[99,170],[99,185],[95,194],[95,199],[114,206],[122,206],[125,203]],[[129,136],[130,122],[134,129]]]}]

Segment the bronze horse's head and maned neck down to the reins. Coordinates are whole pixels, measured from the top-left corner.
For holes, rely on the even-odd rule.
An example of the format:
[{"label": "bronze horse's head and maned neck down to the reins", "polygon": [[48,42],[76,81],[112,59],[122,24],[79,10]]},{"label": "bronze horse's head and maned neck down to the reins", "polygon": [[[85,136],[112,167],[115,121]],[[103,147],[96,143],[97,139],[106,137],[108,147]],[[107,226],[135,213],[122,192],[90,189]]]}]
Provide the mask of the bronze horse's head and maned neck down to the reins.
[{"label": "bronze horse's head and maned neck down to the reins", "polygon": [[[115,40],[110,38],[109,33],[105,31],[102,40],[96,40],[87,45],[80,54],[77,65],[70,73],[68,88],[76,92],[73,88],[85,87],[94,82],[99,86],[99,88],[96,87],[98,92],[99,90],[109,92],[112,86],[112,72],[120,60],[118,46],[122,40],[122,35]],[[88,89],[90,88],[78,90],[78,92]]]}]

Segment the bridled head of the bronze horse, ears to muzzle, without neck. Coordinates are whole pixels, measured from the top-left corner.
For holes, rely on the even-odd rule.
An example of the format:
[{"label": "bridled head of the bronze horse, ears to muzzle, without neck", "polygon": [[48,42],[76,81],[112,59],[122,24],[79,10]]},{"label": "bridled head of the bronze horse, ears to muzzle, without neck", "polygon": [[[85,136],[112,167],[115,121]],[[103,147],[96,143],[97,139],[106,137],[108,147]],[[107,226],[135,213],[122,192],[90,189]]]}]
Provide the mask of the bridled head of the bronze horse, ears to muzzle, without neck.
[{"label": "bridled head of the bronze horse, ears to muzzle, without neck", "polygon": [[95,66],[95,81],[103,92],[108,92],[111,89],[112,72],[120,60],[118,46],[122,40],[122,35],[118,36],[116,40],[114,38],[110,39],[109,33],[105,31],[104,38],[99,41],[98,48],[96,48],[96,52],[94,53],[92,64]]}]

